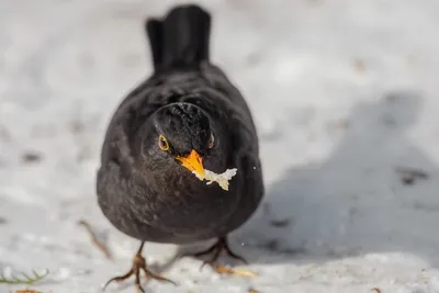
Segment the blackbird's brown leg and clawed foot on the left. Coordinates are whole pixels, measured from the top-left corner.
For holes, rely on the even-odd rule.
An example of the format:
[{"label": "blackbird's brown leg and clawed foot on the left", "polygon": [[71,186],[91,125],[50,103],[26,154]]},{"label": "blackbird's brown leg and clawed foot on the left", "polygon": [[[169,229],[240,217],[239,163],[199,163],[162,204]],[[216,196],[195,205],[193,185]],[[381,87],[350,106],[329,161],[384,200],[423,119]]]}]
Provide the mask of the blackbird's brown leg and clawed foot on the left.
[{"label": "blackbird's brown leg and clawed foot on the left", "polygon": [[145,293],[144,289],[140,285],[140,271],[144,271],[148,279],[155,279],[155,280],[158,280],[160,282],[169,282],[169,283],[172,283],[172,284],[176,285],[176,283],[173,281],[171,281],[169,279],[166,279],[166,278],[162,278],[162,277],[151,272],[147,268],[145,258],[142,256],[142,250],[144,248],[144,245],[145,245],[145,243],[142,243],[142,245],[138,248],[136,255],[134,256],[133,267],[131,268],[131,270],[127,273],[123,274],[123,275],[114,277],[114,278],[110,279],[105,283],[105,285],[103,288],[104,290],[111,282],[113,282],[113,281],[122,282],[122,281],[128,279],[130,277],[132,277],[134,274],[135,275],[135,285],[136,285],[137,292]]}]

